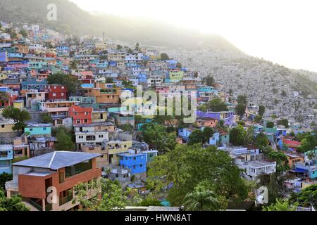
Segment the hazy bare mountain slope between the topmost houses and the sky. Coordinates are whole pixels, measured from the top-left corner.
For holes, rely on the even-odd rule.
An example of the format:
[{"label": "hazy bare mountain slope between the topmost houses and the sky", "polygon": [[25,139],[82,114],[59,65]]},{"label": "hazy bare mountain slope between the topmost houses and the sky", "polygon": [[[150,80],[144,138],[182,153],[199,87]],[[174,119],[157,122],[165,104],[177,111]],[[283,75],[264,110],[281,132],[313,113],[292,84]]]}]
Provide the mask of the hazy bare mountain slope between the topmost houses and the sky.
[{"label": "hazy bare mountain slope between the topmost houses and the sky", "polygon": [[[57,21],[46,19],[46,6],[56,4]],[[200,34],[144,18],[92,15],[67,0],[0,0],[0,20],[13,23],[40,23],[72,34],[93,34],[145,45],[186,49],[223,49],[240,52],[217,34]]]}]

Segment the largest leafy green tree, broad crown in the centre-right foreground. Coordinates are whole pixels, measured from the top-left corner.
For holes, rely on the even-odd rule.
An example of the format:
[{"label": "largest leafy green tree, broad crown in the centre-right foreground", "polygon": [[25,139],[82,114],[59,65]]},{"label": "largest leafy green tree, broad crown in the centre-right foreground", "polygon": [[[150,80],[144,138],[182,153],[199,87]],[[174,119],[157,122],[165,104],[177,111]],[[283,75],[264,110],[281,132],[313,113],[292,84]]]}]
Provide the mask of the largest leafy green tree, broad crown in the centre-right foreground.
[{"label": "largest leafy green tree, broad crown in the centre-right foreground", "polygon": [[202,182],[219,198],[239,202],[248,196],[240,173],[230,156],[216,147],[178,145],[149,164],[147,182],[154,193],[161,193],[168,184],[173,184],[168,200],[175,206],[182,205],[187,193],[192,193]]}]

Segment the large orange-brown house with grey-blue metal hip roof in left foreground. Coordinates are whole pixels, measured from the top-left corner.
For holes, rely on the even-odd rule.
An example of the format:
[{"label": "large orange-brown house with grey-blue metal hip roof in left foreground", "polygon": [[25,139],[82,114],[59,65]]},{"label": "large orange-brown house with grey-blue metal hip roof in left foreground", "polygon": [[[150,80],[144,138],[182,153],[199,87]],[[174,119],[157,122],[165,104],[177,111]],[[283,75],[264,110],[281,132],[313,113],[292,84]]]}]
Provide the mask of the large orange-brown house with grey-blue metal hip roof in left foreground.
[{"label": "large orange-brown house with grey-blue metal hip roof in left foreground", "polygon": [[[96,153],[54,152],[13,164],[13,181],[6,182],[8,198],[19,193],[32,211],[67,211],[77,184],[92,184],[101,178]],[[55,198],[54,198],[55,197]]]}]

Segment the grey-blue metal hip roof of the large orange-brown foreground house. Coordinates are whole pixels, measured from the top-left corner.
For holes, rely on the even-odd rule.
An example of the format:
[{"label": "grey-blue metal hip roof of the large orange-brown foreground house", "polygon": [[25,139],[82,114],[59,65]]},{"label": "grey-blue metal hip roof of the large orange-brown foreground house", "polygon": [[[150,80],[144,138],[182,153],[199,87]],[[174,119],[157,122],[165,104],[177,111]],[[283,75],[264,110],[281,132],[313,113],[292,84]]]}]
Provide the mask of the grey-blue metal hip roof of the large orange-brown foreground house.
[{"label": "grey-blue metal hip roof of the large orange-brown foreground house", "polygon": [[70,167],[72,165],[76,165],[80,162],[85,162],[99,156],[101,155],[97,153],[58,151],[45,155],[39,155],[35,158],[30,158],[21,162],[16,162],[13,164],[13,166],[61,169],[63,167]]}]

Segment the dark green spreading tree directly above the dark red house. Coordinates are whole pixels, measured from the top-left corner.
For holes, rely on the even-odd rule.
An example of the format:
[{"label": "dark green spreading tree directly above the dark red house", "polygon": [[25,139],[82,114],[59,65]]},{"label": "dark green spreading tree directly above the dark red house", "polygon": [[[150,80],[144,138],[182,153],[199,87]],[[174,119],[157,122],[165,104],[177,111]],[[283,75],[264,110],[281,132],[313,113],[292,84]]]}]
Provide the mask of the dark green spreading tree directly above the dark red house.
[{"label": "dark green spreading tree directly above the dark red house", "polygon": [[54,75],[49,75],[49,77],[47,77],[47,83],[67,86],[68,94],[76,93],[80,86],[80,81],[77,79],[77,77],[61,72],[55,73]]}]

